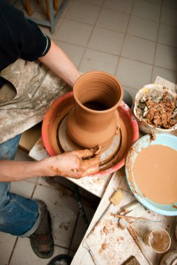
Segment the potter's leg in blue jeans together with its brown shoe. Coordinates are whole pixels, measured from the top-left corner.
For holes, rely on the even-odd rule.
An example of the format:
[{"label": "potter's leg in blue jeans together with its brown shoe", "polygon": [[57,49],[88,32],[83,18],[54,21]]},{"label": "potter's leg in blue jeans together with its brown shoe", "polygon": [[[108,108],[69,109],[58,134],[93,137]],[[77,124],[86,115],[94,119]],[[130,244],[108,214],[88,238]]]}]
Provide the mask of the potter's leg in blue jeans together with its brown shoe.
[{"label": "potter's leg in blue jeans together with its brown shoe", "polygon": [[[0,144],[0,160],[15,158],[20,136]],[[0,182],[0,231],[30,236],[31,246],[38,257],[52,257],[54,242],[47,206],[44,202],[37,204],[32,199],[16,195],[9,189],[10,183]]]}]

